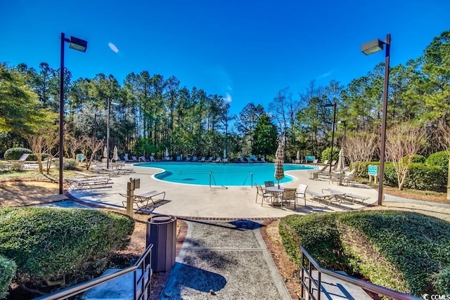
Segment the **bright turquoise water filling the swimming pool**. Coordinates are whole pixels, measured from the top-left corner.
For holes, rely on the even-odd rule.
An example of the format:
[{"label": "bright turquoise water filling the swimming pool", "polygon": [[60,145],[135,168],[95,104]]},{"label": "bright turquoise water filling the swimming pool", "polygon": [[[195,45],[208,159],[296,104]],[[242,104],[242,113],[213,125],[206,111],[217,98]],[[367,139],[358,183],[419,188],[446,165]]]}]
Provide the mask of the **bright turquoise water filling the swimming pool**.
[{"label": "bright turquoise water filling the swimming pool", "polygon": [[[214,162],[148,162],[137,164],[139,167],[164,169],[155,178],[174,183],[197,185],[264,185],[264,181],[273,180],[275,166],[270,163],[254,164],[221,164]],[[314,169],[299,164],[284,164],[284,171]],[[280,183],[292,181],[293,178],[285,174]]]}]

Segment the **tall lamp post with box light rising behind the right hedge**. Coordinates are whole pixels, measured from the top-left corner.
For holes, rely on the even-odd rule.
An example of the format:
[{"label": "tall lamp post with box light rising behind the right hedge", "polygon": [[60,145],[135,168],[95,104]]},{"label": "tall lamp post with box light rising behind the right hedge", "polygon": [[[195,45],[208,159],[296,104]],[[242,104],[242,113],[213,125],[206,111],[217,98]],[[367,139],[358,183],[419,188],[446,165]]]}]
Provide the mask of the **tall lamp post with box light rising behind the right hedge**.
[{"label": "tall lamp post with box light rising behind the right hedge", "polygon": [[386,118],[387,118],[387,89],[389,88],[389,61],[391,48],[391,35],[386,35],[385,41],[374,39],[361,46],[362,53],[366,56],[382,51],[386,45],[385,53],[385,84],[383,89],[383,115],[381,120],[381,145],[380,145],[380,176],[378,178],[378,205],[383,204],[383,177],[385,175],[385,146],[386,146]]}]

